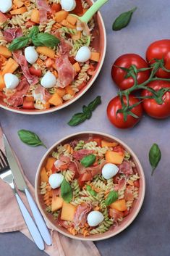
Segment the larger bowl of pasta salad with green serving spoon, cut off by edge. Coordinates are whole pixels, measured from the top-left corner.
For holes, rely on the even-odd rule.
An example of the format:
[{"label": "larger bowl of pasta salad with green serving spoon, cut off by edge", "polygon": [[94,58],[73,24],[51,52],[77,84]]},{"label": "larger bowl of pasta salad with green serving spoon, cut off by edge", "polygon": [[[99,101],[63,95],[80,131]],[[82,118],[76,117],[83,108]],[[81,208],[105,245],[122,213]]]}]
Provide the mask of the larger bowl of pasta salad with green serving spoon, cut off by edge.
[{"label": "larger bowl of pasta salad with green serving spoon, cut off by edge", "polygon": [[6,0],[0,7],[0,107],[38,115],[67,107],[101,71],[106,30],[100,12],[77,19],[91,0]]}]

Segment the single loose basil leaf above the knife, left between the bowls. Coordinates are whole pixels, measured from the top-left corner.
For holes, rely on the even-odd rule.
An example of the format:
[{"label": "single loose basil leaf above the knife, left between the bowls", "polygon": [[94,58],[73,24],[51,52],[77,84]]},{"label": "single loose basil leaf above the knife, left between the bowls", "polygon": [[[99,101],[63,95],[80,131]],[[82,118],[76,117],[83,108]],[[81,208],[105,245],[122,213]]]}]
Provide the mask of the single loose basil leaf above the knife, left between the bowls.
[{"label": "single loose basil leaf above the knife, left between the bowls", "polygon": [[20,137],[20,140],[29,146],[44,146],[44,147],[46,147],[46,145],[43,144],[43,142],[38,137],[38,135],[36,135],[32,131],[20,130],[17,133],[18,133],[18,136]]}]

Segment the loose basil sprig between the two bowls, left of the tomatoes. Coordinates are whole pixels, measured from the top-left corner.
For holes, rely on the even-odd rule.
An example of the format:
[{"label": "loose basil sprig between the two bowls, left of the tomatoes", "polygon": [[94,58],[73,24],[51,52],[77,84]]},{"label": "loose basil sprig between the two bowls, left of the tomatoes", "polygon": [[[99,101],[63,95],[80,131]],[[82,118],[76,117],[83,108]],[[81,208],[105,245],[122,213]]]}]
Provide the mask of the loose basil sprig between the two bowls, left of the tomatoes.
[{"label": "loose basil sprig between the two bowls, left of the tomatoes", "polygon": [[93,110],[95,110],[95,108],[98,107],[98,105],[100,104],[101,104],[101,96],[97,96],[93,100],[93,102],[90,102],[90,104],[88,104],[88,107],[87,106],[82,107],[82,112],[73,115],[72,119],[69,120],[68,125],[70,126],[80,125],[80,123],[83,123],[85,120],[90,119],[90,117],[92,116]]}]

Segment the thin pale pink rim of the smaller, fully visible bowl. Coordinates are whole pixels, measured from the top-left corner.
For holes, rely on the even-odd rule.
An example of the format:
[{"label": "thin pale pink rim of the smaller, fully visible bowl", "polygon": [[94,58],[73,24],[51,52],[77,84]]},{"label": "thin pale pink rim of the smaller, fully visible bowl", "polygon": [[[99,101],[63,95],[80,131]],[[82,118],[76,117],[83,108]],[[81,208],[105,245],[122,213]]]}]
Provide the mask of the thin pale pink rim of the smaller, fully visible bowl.
[{"label": "thin pale pink rim of the smaller, fully visible bowl", "polygon": [[[85,238],[81,238],[81,237],[77,237],[77,236],[73,236],[72,234],[67,234],[65,233],[64,231],[61,231],[59,228],[57,228],[57,226],[55,226],[53,223],[51,223],[50,220],[48,220],[48,218],[46,217],[46,214],[44,213],[44,210],[43,208],[41,207],[41,204],[38,200],[38,177],[39,177],[39,174],[40,174],[40,170],[41,170],[41,167],[43,165],[43,161],[46,159],[46,157],[48,156],[48,154],[58,145],[58,144],[61,144],[62,141],[66,140],[66,139],[71,139],[72,137],[75,137],[75,136],[79,136],[79,135],[88,135],[88,134],[92,134],[92,135],[99,135],[99,136],[106,136],[108,137],[109,139],[113,139],[114,141],[118,141],[119,144],[122,144],[122,146],[124,146],[131,154],[132,154],[132,157],[135,159],[135,161],[137,162],[137,165],[140,169],[140,178],[141,180],[143,181],[143,187],[141,189],[141,198],[140,198],[140,202],[139,202],[139,205],[137,206],[136,210],[135,210],[135,213],[132,215],[132,217],[129,219],[129,221],[124,225],[124,226],[120,226],[119,230],[117,231],[114,231],[113,230],[113,233],[112,234],[109,234],[109,235],[104,235],[101,234],[100,237],[98,238],[94,238],[93,237],[85,237]],[[69,136],[65,136],[63,139],[60,139],[59,141],[56,141],[56,143],[54,143],[49,149],[48,151],[46,152],[46,154],[43,155],[42,159],[41,159],[41,162],[40,164],[38,165],[38,169],[37,169],[37,172],[36,172],[36,176],[35,176],[35,199],[36,199],[36,202],[37,202],[37,205],[39,207],[39,209],[41,210],[41,214],[43,215],[43,218],[45,218],[45,220],[48,221],[48,223],[50,223],[51,227],[56,230],[56,231],[59,231],[59,233],[63,234],[64,236],[67,236],[69,238],[72,238],[72,239],[77,239],[77,240],[82,240],[82,241],[100,241],[100,240],[104,240],[104,239],[109,239],[111,238],[112,236],[115,236],[116,234],[119,234],[120,232],[124,231],[125,228],[127,228],[133,220],[135,220],[135,218],[137,217],[138,213],[140,212],[140,209],[143,205],[143,201],[144,201],[144,198],[145,198],[145,174],[144,174],[144,171],[143,171],[143,167],[142,165],[140,164],[140,160],[138,160],[138,157],[137,155],[135,154],[135,152],[132,151],[132,149],[127,146],[127,144],[125,144],[121,139],[118,139],[116,138],[115,136],[111,136],[110,134],[108,133],[102,133],[102,132],[97,132],[97,131],[83,131],[83,132],[78,132],[78,133],[72,133],[71,135]],[[131,213],[132,214],[132,213]],[[103,237],[104,236],[104,237]]]}]

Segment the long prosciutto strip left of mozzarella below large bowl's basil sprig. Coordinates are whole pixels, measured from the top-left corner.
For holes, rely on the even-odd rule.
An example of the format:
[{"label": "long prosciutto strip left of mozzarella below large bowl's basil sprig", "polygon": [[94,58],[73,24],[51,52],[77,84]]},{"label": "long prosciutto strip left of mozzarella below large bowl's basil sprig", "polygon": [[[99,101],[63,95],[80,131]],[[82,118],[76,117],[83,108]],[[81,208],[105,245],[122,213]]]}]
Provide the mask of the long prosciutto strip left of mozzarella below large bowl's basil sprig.
[{"label": "long prosciutto strip left of mozzarella below large bowl's basil sprig", "polygon": [[36,83],[38,83],[38,77],[30,74],[30,70],[27,65],[27,60],[25,59],[25,56],[22,54],[22,51],[14,51],[13,55],[16,62],[22,68],[23,75],[27,79],[28,83],[30,83],[31,85],[35,85]]}]

